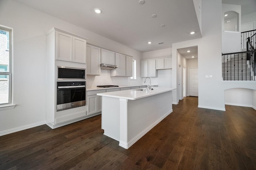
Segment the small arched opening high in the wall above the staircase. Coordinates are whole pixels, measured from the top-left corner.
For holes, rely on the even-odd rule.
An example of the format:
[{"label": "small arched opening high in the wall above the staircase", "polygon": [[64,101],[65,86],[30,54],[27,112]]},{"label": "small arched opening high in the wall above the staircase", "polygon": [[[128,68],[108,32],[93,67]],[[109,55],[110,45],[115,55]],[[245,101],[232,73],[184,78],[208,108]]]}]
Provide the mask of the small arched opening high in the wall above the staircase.
[{"label": "small arched opening high in the wall above the staircase", "polygon": [[239,32],[239,14],[235,11],[224,13],[224,31]]}]

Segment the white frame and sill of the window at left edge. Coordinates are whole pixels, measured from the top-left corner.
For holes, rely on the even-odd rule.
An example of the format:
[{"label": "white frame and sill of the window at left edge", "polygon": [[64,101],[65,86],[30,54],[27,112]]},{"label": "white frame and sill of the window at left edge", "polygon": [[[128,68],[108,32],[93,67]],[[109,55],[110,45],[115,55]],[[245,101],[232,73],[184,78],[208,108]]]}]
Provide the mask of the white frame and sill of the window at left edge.
[{"label": "white frame and sill of the window at left edge", "polygon": [[0,75],[7,75],[9,79],[9,91],[8,91],[8,103],[0,104],[0,110],[13,109],[15,105],[13,104],[13,29],[7,26],[0,25],[0,29],[9,32],[9,65],[8,71],[0,72]]}]

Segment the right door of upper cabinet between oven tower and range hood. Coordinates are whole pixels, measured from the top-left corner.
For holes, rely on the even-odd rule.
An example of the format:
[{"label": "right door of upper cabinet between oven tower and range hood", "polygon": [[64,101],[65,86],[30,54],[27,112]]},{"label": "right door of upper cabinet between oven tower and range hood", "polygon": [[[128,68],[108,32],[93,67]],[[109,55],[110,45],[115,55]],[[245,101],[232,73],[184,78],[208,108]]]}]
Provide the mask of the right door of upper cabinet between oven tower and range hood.
[{"label": "right door of upper cabinet between oven tower and range hood", "polygon": [[[92,46],[91,74],[100,75],[100,48]],[[88,65],[88,63],[86,64]],[[87,67],[87,66],[86,66]]]}]

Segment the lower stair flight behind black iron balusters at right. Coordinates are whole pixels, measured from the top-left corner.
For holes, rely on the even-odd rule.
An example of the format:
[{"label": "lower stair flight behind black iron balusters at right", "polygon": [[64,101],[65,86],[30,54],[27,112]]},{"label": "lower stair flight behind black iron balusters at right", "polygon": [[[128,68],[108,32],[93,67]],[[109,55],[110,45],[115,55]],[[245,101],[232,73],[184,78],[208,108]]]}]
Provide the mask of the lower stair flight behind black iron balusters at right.
[{"label": "lower stair flight behind black iron balusters at right", "polygon": [[255,80],[252,61],[247,60],[247,53],[233,53],[222,57],[223,80]]}]

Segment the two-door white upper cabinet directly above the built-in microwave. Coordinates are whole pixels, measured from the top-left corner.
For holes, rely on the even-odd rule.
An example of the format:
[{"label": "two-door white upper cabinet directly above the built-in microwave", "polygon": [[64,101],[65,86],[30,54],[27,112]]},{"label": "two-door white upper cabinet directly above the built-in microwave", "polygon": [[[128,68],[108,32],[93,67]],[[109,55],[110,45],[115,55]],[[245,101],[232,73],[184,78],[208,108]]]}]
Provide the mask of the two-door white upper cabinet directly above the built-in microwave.
[{"label": "two-door white upper cabinet directly above the built-in microwave", "polygon": [[56,59],[86,63],[86,38],[56,31]]}]

